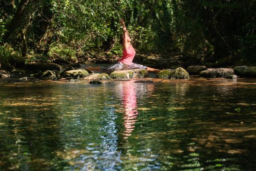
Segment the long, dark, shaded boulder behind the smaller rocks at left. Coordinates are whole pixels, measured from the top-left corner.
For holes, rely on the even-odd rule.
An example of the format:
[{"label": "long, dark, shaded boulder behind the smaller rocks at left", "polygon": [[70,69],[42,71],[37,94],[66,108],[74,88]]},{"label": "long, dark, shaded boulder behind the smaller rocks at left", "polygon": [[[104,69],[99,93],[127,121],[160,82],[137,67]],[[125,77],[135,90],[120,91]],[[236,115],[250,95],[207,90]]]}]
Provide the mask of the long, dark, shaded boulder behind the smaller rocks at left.
[{"label": "long, dark, shaded boulder behind the smaller rocks at left", "polygon": [[61,70],[60,65],[47,62],[25,64],[24,68],[29,71]]}]

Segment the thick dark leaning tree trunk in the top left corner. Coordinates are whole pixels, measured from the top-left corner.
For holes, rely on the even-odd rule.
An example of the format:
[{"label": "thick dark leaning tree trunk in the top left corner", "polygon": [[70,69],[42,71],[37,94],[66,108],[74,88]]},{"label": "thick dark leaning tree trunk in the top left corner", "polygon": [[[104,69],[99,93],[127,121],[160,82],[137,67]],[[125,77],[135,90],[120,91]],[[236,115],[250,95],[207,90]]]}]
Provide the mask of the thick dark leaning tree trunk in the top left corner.
[{"label": "thick dark leaning tree trunk in the top left corner", "polygon": [[26,12],[26,7],[28,6],[29,2],[32,0],[21,0],[20,5],[17,8],[17,12],[14,14],[10,23],[6,25],[6,34],[3,37],[3,41],[7,41],[9,36],[12,35],[15,29],[20,28],[22,25],[22,19]]}]

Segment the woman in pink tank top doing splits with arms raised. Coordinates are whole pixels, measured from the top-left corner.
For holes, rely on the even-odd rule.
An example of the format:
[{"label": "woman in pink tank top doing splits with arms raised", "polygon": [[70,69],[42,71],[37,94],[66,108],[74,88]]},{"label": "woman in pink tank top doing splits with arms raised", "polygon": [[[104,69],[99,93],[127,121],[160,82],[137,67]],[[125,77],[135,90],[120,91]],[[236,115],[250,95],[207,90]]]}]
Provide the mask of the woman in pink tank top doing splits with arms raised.
[{"label": "woman in pink tank top doing splits with arms raised", "polygon": [[135,50],[131,46],[131,38],[129,37],[129,33],[127,31],[127,28],[125,26],[125,22],[123,19],[120,19],[120,23],[123,28],[123,55],[122,58],[118,60],[116,64],[113,64],[109,67],[87,67],[86,70],[90,71],[102,71],[102,72],[108,72],[111,73],[113,71],[117,70],[134,70],[134,69],[145,69],[148,72],[160,72],[161,70],[157,70],[150,67],[145,67],[140,64],[135,64],[132,62],[134,56],[135,56]]}]

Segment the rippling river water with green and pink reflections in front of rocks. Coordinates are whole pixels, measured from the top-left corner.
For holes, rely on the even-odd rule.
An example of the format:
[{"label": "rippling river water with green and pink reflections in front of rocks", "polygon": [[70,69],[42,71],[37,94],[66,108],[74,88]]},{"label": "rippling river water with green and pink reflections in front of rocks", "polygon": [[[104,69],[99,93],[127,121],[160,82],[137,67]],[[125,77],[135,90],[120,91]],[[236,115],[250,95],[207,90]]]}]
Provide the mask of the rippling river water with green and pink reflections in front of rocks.
[{"label": "rippling river water with green and pink reflections in front of rocks", "polygon": [[0,170],[254,170],[255,79],[137,80],[0,82]]}]

